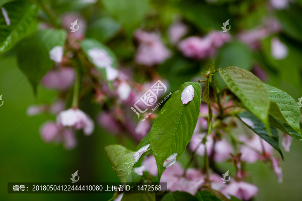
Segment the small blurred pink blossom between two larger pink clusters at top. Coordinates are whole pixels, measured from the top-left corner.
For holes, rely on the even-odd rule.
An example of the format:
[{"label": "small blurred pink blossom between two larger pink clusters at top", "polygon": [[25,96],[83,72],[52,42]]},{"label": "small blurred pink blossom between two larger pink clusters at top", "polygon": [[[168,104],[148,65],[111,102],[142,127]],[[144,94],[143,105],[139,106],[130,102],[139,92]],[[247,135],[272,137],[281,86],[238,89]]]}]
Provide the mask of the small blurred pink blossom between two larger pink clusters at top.
[{"label": "small blurred pink blossom between two larger pink clusters at top", "polygon": [[176,44],[187,32],[188,27],[182,22],[173,23],[168,30],[171,44]]}]

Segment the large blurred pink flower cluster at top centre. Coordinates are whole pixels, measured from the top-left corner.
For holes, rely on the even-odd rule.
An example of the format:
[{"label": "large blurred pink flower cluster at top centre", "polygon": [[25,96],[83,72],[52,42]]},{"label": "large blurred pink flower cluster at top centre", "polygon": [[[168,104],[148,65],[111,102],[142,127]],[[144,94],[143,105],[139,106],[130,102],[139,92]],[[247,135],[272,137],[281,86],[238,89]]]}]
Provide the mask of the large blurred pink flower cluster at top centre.
[{"label": "large blurred pink flower cluster at top centre", "polygon": [[157,34],[136,30],[134,37],[139,42],[135,54],[136,63],[153,66],[163,63],[171,56],[171,51],[165,47]]}]

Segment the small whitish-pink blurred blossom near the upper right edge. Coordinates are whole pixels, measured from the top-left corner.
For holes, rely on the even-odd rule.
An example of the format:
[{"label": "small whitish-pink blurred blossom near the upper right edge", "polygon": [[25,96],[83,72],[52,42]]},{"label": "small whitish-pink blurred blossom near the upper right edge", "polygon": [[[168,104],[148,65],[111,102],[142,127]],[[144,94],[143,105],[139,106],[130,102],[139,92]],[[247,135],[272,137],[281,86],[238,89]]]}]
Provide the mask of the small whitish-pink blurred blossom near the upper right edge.
[{"label": "small whitish-pink blurred blossom near the upper right edge", "polygon": [[285,59],[288,55],[288,48],[279,38],[273,37],[271,39],[271,54],[276,60]]}]

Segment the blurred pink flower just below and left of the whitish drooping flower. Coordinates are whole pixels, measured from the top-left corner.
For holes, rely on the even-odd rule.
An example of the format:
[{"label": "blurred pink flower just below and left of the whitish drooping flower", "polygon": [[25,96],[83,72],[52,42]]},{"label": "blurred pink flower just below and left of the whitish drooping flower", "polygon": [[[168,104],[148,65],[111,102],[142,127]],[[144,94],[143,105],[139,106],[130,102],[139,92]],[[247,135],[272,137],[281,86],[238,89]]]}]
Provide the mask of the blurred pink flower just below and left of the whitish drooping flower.
[{"label": "blurred pink flower just below and left of the whitish drooping flower", "polygon": [[40,128],[40,134],[45,142],[64,142],[65,149],[72,149],[77,145],[72,131],[52,122],[44,123]]}]

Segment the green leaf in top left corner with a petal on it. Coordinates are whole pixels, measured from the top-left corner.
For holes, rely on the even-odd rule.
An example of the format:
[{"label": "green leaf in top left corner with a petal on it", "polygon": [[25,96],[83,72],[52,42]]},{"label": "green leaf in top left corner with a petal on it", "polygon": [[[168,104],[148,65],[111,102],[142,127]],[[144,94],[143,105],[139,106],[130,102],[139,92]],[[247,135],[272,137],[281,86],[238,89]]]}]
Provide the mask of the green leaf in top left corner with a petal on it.
[{"label": "green leaf in top left corner with a petal on it", "polygon": [[2,7],[7,11],[11,25],[7,25],[0,12],[0,52],[10,49],[23,36],[38,12],[36,5],[26,1],[10,2]]}]

